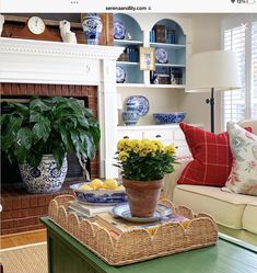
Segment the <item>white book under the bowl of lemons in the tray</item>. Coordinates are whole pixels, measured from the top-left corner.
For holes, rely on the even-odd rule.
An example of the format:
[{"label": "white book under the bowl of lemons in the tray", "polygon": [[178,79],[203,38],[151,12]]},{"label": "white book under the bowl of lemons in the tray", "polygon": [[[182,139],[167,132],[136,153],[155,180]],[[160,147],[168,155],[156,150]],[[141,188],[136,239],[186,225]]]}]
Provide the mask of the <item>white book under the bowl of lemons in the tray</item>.
[{"label": "white book under the bowl of lemons in the tray", "polygon": [[114,206],[96,206],[96,205],[85,205],[80,203],[79,201],[72,201],[70,202],[68,208],[79,213],[81,215],[84,215],[85,217],[94,217],[97,214],[101,213],[107,213],[107,212],[112,212]]}]

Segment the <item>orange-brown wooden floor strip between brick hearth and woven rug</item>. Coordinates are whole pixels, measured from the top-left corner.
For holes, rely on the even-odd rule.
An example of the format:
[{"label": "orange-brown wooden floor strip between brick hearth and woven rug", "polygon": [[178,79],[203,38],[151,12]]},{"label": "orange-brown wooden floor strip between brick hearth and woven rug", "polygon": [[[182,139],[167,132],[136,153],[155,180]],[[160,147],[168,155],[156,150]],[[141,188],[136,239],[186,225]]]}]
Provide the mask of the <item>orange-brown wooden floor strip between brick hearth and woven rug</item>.
[{"label": "orange-brown wooden floor strip between brick hearth and woven rug", "polygon": [[46,229],[4,235],[0,237],[1,249],[46,241]]}]

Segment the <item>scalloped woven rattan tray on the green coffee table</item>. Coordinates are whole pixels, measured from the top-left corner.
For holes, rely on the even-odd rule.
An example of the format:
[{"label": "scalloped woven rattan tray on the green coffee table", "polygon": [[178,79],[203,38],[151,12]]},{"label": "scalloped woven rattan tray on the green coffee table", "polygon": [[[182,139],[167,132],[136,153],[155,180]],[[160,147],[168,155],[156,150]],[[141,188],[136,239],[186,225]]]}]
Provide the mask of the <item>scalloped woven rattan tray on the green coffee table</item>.
[{"label": "scalloped woven rattan tray on the green coffee table", "polygon": [[48,214],[52,221],[110,265],[135,263],[156,257],[168,255],[191,249],[215,244],[218,227],[214,220],[206,215],[192,216],[192,212],[164,200],[173,212],[190,219],[185,229],[179,223],[160,225],[154,235],[147,229],[136,229],[114,237],[104,227],[87,219],[80,219],[74,213],[68,213],[72,195],[60,195],[49,203]]}]

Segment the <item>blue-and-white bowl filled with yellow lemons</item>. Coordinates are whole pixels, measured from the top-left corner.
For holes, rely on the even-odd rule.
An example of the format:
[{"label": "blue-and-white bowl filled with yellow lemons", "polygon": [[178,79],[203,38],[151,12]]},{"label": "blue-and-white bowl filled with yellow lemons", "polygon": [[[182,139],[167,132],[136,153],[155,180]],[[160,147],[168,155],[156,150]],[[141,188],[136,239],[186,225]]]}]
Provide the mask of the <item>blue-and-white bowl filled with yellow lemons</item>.
[{"label": "blue-and-white bowl filled with yellow lemons", "polygon": [[94,179],[70,186],[78,201],[94,205],[115,205],[127,202],[125,187],[115,179]]}]

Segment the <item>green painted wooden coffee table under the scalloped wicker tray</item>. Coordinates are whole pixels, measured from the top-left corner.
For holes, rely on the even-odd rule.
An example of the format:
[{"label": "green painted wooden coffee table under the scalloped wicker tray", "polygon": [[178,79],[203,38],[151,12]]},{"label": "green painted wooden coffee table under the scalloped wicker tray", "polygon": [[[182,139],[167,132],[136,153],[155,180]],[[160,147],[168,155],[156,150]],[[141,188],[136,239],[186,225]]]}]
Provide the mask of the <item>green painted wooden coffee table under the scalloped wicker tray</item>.
[{"label": "green painted wooden coffee table under the scalloped wicker tray", "polygon": [[86,247],[42,217],[47,227],[48,273],[256,273],[257,251],[220,239],[217,246],[110,266]]}]

